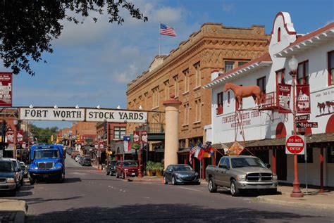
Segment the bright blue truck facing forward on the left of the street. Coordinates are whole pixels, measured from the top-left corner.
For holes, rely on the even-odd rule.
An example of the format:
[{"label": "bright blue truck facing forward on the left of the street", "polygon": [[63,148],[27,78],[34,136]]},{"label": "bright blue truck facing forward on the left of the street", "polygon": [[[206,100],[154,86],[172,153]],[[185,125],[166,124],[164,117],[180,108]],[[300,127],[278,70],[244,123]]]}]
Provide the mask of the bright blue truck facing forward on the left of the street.
[{"label": "bright blue truck facing forward on the left of the street", "polygon": [[65,179],[65,153],[63,145],[35,145],[30,149],[31,163],[28,168],[30,184],[36,180]]}]

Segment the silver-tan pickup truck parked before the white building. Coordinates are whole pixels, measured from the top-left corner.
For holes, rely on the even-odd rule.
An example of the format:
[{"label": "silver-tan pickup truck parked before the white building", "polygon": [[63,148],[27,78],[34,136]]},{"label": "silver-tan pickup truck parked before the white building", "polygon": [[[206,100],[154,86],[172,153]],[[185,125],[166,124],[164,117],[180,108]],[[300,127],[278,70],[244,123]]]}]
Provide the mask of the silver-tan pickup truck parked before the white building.
[{"label": "silver-tan pickup truck parked before the white building", "polygon": [[265,165],[259,158],[250,155],[223,156],[218,166],[208,165],[205,171],[206,181],[211,193],[217,186],[230,188],[232,196],[247,189],[266,189],[271,193],[277,191],[277,176],[270,165]]}]

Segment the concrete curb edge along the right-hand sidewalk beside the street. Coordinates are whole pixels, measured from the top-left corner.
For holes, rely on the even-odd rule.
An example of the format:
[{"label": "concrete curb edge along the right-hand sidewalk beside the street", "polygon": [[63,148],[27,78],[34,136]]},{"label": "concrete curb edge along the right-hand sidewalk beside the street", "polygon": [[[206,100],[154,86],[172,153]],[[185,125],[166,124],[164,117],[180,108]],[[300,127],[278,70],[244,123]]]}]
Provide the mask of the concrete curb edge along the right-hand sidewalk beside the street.
[{"label": "concrete curb edge along the right-hand sidewalk beside the street", "polygon": [[298,208],[318,208],[318,209],[326,209],[326,210],[334,210],[334,205],[328,204],[320,204],[320,203],[299,203],[287,200],[276,200],[271,198],[264,198],[262,196],[258,196],[254,198],[254,202],[264,202],[264,203],[272,203],[275,205],[283,205],[290,207],[298,207]]}]

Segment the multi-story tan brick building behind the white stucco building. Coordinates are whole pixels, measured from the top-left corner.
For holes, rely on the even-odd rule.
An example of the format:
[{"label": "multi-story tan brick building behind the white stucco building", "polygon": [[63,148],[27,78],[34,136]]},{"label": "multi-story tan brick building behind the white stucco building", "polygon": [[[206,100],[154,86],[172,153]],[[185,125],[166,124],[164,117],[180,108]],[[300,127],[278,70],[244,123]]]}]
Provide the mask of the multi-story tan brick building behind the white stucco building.
[{"label": "multi-story tan brick building behind the white stucco building", "polygon": [[[211,123],[211,91],[202,86],[211,82],[211,71],[227,72],[262,56],[268,51],[268,39],[261,25],[245,28],[204,23],[168,56],[156,56],[149,69],[128,84],[128,109],[163,111],[163,101],[173,93],[183,103],[178,123],[179,147],[203,142],[204,126]],[[162,114],[159,119],[164,122]],[[148,122],[159,119],[149,115]],[[135,127],[128,123],[128,132]],[[154,147],[154,142],[150,143],[150,148]],[[163,143],[156,145],[161,148]]]}]

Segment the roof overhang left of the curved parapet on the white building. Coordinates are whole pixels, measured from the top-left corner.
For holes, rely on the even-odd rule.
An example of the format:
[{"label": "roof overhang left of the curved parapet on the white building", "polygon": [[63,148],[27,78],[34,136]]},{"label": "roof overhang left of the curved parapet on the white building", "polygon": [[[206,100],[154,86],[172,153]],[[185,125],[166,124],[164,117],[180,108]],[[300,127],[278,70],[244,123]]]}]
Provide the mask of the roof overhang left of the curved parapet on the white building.
[{"label": "roof overhang left of the curved parapet on the white building", "polygon": [[219,79],[214,80],[213,82],[206,84],[203,86],[204,89],[212,89],[218,85],[221,85],[227,81],[230,81],[232,79],[235,79],[237,77],[241,77],[242,75],[246,75],[249,72],[253,72],[255,70],[258,70],[259,68],[265,68],[271,65],[273,62],[271,61],[261,61],[253,63],[245,68],[242,68],[240,70],[237,70],[233,73],[230,73],[229,75],[226,75],[224,77],[221,77]]}]

